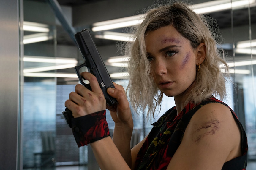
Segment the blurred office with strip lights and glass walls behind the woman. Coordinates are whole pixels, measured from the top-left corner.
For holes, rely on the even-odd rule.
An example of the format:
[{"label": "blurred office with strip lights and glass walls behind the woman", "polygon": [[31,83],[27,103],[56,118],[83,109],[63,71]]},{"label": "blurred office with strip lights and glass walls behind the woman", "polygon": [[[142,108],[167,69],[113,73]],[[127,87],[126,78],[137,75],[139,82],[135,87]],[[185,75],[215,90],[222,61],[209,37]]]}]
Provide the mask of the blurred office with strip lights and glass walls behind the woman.
[{"label": "blurred office with strip lights and glass walls behind the woman", "polygon": [[[127,86],[127,59],[118,46],[143,9],[165,0],[0,0],[0,169],[99,169],[90,147],[78,148],[62,111],[84,62],[74,34],[84,28],[113,81]],[[256,0],[192,0],[223,37],[233,82],[225,101],[248,135],[248,170],[256,169]],[[123,25],[122,25],[123,24]],[[213,23],[213,26],[216,25]],[[161,113],[174,106],[162,102]],[[131,147],[151,129],[146,111],[134,116]],[[157,119],[157,117],[156,117]],[[110,132],[113,122],[109,112]]]}]

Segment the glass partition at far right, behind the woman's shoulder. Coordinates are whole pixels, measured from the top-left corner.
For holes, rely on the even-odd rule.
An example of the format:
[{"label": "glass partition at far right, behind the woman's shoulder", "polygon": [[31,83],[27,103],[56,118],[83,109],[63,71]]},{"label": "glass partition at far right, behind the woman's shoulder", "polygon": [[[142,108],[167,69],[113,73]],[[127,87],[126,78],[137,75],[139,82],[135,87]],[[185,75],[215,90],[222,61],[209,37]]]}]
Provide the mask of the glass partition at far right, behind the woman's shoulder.
[{"label": "glass partition at far right, behind the woman's shoulder", "polygon": [[[233,3],[235,1],[232,1]],[[250,1],[248,1],[249,4]],[[233,59],[230,67],[235,83],[235,111],[244,124],[248,137],[248,161],[256,158],[255,112],[255,6],[232,8]],[[243,19],[242,19],[243,18]],[[248,169],[252,168],[249,164]]]}]

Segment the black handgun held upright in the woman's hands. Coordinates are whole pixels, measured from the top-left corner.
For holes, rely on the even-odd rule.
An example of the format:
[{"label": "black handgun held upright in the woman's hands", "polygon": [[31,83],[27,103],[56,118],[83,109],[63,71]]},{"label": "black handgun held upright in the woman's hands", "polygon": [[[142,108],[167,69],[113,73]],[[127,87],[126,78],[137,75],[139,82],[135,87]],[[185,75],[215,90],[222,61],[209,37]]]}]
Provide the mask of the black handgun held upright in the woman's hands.
[{"label": "black handgun held upright in the woman's hands", "polygon": [[[113,82],[110,78],[110,75],[108,74],[108,71],[105,67],[104,62],[102,61],[101,56],[99,55],[99,52],[97,50],[97,47],[91,37],[90,31],[87,29],[81,30],[80,32],[75,34],[75,39],[78,45],[78,48],[80,49],[80,52],[83,56],[83,59],[85,59],[85,62],[79,66],[75,66],[75,72],[78,75],[79,81],[81,84],[83,84],[86,88],[91,90],[90,84],[86,84],[83,81],[83,77],[80,75],[80,69],[82,67],[87,67],[88,71],[93,74],[95,77],[97,77],[97,80],[99,82],[99,86],[102,89],[102,92],[105,96],[106,103],[109,106],[112,106],[114,103],[116,103],[116,99],[108,95],[107,88],[115,88],[113,85]],[[72,112],[66,108],[64,112],[62,112],[65,120],[67,121],[67,124],[69,127],[72,127],[71,119],[72,119]]]}]

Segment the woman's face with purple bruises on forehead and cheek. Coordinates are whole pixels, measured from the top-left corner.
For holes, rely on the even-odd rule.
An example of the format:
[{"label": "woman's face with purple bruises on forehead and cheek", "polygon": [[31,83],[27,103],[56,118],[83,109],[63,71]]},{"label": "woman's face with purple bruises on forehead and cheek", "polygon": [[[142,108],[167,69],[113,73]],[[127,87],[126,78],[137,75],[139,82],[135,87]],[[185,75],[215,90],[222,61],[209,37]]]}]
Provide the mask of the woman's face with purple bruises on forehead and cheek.
[{"label": "woman's face with purple bruises on forehead and cheek", "polygon": [[151,74],[165,95],[182,95],[196,76],[197,50],[173,26],[149,31],[145,37]]}]

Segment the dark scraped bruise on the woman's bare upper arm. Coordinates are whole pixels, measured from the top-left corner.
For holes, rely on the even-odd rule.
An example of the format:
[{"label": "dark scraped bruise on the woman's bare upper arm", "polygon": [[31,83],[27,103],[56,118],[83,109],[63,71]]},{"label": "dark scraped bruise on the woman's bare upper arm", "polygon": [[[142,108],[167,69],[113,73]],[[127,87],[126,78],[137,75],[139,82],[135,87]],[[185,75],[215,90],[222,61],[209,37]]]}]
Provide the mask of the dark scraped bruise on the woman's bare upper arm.
[{"label": "dark scraped bruise on the woman's bare upper arm", "polygon": [[218,119],[212,119],[209,122],[205,122],[199,128],[195,130],[195,136],[193,140],[195,142],[199,142],[206,135],[214,135],[217,131],[219,131],[220,122]]}]

